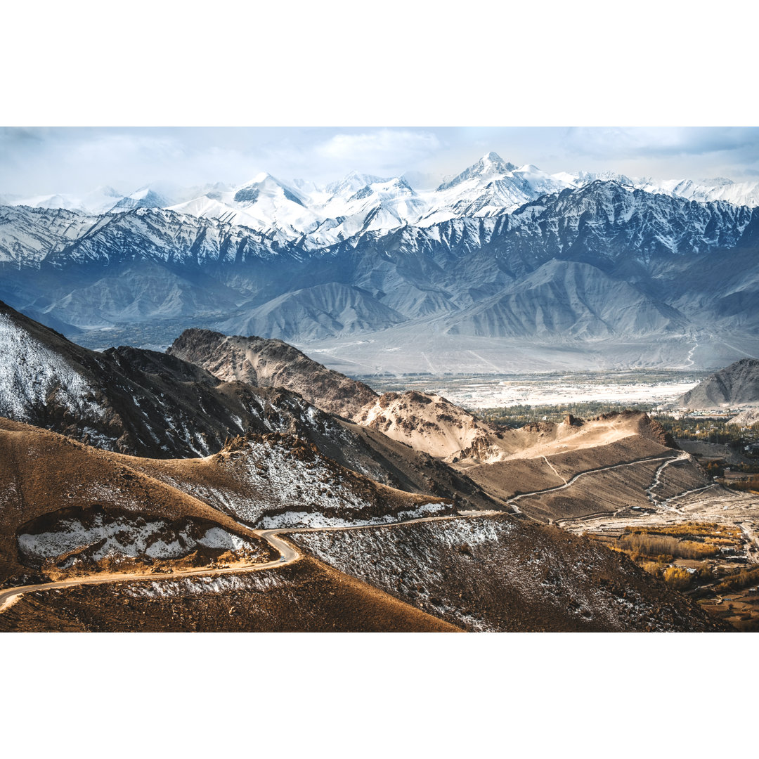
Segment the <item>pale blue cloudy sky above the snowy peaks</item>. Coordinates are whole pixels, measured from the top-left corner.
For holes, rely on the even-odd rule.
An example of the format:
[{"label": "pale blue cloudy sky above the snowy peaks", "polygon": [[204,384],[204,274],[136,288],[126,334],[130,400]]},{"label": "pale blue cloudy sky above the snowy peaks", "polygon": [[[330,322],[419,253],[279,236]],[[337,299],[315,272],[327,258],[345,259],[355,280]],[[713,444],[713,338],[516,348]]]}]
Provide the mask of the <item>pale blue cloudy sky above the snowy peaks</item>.
[{"label": "pale blue cloudy sky above the snowy peaks", "polygon": [[405,175],[424,189],[491,150],[550,173],[759,178],[759,128],[748,127],[11,127],[0,129],[0,194],[237,185],[260,172],[317,184]]}]

